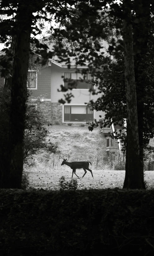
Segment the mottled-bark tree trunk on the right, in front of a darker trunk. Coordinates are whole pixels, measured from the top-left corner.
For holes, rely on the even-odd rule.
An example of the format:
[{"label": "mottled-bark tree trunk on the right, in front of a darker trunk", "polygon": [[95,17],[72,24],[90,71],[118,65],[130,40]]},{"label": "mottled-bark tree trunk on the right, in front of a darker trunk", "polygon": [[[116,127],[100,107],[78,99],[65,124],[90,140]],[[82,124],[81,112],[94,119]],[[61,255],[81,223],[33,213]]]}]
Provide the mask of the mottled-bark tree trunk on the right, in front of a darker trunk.
[{"label": "mottled-bark tree trunk on the right, in front of a darker trunk", "polygon": [[[129,189],[142,189],[139,159],[137,101],[133,58],[133,36],[131,25],[131,0],[123,0],[123,8],[125,10],[126,17],[126,19],[123,20],[123,40],[127,104],[126,169],[128,168],[128,183],[125,181],[125,184],[128,184],[127,188]],[[125,175],[125,179],[127,179],[127,175]]]}]

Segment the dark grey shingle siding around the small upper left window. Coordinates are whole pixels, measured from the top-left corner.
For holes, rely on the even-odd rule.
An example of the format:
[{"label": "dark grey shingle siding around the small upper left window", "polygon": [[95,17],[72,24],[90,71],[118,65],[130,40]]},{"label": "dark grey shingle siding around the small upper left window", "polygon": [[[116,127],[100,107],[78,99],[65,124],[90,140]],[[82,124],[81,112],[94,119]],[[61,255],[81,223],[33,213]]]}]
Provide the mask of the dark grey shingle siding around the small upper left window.
[{"label": "dark grey shingle siding around the small upper left window", "polygon": [[51,98],[51,67],[46,67],[39,70],[37,74],[37,90],[29,90],[30,96],[38,97],[48,93],[47,99]]}]

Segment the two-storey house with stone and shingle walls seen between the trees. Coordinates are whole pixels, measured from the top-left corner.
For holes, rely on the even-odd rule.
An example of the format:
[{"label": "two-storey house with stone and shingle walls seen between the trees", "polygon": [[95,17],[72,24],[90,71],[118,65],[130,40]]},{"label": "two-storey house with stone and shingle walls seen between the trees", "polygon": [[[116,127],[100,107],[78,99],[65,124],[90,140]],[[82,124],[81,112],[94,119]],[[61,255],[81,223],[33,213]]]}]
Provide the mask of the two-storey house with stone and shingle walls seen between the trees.
[{"label": "two-storey house with stone and shingle walls seen between the trees", "polygon": [[[48,38],[49,37],[46,39]],[[46,44],[48,44],[49,50],[52,50],[53,44],[49,44],[48,41]],[[102,42],[102,44],[107,51],[108,44],[105,41]],[[113,56],[110,56],[107,52],[104,55],[113,59]],[[97,100],[99,94],[92,95],[92,93],[89,92],[89,88],[92,85],[87,83],[87,81],[90,82],[93,79],[90,74],[87,74],[84,81],[80,81],[80,78],[83,77],[80,73],[76,73],[74,58],[75,57],[70,57],[70,69],[67,68],[64,62],[59,63],[58,57],[54,56],[54,58],[48,60],[45,67],[39,70],[38,74],[35,73],[34,70],[28,71],[29,81],[27,82],[27,86],[30,97],[34,100],[35,97],[39,97],[40,95],[48,95],[46,98],[42,99],[41,104],[43,104],[44,116],[52,123],[58,121],[63,124],[79,124],[88,121],[92,122],[93,119],[99,120],[100,115],[104,118],[104,112],[91,110],[90,106],[84,104],[92,99],[94,101]],[[83,68],[87,68],[87,66],[78,66],[77,68],[82,70]],[[65,103],[64,105],[58,102],[58,100],[64,98],[64,93],[58,92],[57,89],[60,89],[60,85],[69,89],[69,85],[68,82],[63,81],[62,76],[77,82],[77,89],[67,91],[68,93],[72,92],[74,97],[71,99],[70,103]],[[97,91],[97,88],[94,89]]]}]

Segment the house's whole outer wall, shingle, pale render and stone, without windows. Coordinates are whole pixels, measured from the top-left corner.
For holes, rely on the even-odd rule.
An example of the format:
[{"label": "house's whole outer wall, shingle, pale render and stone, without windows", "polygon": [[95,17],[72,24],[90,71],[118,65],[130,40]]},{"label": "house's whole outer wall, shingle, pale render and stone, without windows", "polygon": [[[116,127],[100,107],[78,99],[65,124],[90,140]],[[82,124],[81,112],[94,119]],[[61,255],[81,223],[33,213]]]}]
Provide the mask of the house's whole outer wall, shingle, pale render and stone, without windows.
[{"label": "house's whole outer wall, shingle, pale render and stone, without windows", "polygon": [[[64,72],[75,72],[74,69],[62,68],[57,66],[56,64],[51,64],[51,66],[43,68],[38,73],[37,78],[37,90],[29,90],[30,96],[38,97],[42,94],[48,93],[47,99],[49,101],[43,101],[43,112],[45,118],[51,119],[51,121],[55,122],[56,120],[59,122],[64,122],[64,105],[58,103],[58,100],[64,98],[64,92],[58,92],[57,89],[61,89],[60,85],[64,85],[62,76]],[[71,99],[70,104],[65,105],[85,105],[85,102],[89,102],[90,100],[96,101],[99,95],[92,95],[88,89],[73,89],[69,90],[68,93],[72,93],[74,97]],[[51,100],[50,100],[51,99]],[[97,121],[100,119],[99,115],[104,118],[104,112],[95,111],[94,110],[94,118]],[[67,122],[66,122],[67,123]],[[73,122],[75,123],[75,122]],[[79,122],[76,122],[79,123]]]}]

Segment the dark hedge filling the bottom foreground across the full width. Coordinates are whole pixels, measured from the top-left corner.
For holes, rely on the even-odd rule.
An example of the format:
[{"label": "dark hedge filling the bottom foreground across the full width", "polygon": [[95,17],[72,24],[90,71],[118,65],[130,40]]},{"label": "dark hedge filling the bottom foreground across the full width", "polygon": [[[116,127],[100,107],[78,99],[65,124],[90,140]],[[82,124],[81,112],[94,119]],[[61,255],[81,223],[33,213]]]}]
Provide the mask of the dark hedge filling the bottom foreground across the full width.
[{"label": "dark hedge filling the bottom foreground across the full width", "polygon": [[4,256],[154,255],[153,190],[0,189],[0,220]]}]

